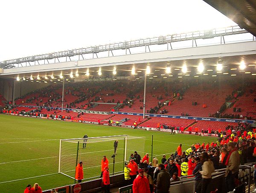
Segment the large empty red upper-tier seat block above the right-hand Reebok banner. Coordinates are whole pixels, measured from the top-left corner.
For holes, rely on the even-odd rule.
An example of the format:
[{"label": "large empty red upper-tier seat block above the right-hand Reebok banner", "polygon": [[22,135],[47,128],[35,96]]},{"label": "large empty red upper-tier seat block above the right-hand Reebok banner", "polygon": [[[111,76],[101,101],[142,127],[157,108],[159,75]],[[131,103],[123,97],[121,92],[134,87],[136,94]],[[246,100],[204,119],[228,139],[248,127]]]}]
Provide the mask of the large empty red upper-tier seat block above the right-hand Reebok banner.
[{"label": "large empty red upper-tier seat block above the right-hand Reebok banner", "polygon": [[[172,102],[171,106],[164,106],[169,115],[181,115],[188,113],[189,116],[209,117],[218,111],[225,103],[225,98],[233,91],[233,86],[228,84],[201,84],[198,86],[190,86],[183,95],[182,100]],[[192,102],[197,102],[196,106]],[[207,107],[203,108],[203,104]]]}]

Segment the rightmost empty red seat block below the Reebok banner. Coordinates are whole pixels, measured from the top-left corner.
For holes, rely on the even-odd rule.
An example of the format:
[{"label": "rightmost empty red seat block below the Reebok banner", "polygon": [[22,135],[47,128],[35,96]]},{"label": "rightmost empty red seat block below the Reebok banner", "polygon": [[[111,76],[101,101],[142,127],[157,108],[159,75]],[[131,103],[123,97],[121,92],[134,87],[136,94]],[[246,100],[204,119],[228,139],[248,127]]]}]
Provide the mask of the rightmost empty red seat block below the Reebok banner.
[{"label": "rightmost empty red seat block below the Reebok banner", "polygon": [[230,126],[237,126],[237,123],[230,123],[230,122],[218,122],[218,121],[198,121],[197,123],[193,124],[192,131],[195,130],[195,127],[198,127],[198,131],[201,132],[201,130],[208,130],[210,127],[211,130],[219,130],[221,131],[225,130],[225,128]]}]

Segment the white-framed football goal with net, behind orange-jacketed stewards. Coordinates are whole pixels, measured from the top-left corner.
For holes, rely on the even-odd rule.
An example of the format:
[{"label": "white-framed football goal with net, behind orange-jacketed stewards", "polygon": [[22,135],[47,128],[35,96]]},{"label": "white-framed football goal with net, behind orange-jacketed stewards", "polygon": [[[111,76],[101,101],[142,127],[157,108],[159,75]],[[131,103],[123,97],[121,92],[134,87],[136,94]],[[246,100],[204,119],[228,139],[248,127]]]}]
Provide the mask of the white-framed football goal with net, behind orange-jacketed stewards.
[{"label": "white-framed football goal with net, behind orange-jacketed stewards", "polygon": [[[116,140],[118,145],[115,152]],[[110,174],[120,173],[131,153],[137,151],[145,154],[144,147],[145,137],[129,135],[61,139],[58,172],[75,179],[76,165],[83,161],[84,180],[99,178],[102,157],[106,156]]]}]

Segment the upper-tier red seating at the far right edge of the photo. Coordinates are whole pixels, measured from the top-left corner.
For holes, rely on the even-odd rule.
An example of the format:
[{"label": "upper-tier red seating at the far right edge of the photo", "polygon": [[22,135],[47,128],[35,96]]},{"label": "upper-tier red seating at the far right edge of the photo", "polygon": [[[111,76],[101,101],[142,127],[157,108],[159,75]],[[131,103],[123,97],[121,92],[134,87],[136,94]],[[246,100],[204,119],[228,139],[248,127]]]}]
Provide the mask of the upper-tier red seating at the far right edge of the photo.
[{"label": "upper-tier red seating at the far right edge of the photo", "polygon": [[237,100],[230,101],[235,102],[234,107],[241,108],[241,112],[233,112],[233,107],[231,107],[223,113],[243,115],[243,119],[244,117],[256,119],[256,102],[254,102],[254,98],[256,98],[256,85],[248,86],[245,88],[243,95],[238,97]]}]

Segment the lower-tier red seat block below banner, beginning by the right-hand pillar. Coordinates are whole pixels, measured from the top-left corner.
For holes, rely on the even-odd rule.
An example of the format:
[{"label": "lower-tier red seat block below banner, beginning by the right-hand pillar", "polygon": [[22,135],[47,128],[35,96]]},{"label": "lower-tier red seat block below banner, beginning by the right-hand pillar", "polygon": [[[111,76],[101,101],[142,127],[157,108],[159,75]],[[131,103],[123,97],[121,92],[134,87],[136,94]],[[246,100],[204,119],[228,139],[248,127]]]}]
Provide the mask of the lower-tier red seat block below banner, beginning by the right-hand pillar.
[{"label": "lower-tier red seat block below banner, beginning by the right-hand pillar", "polygon": [[195,120],[189,120],[189,119],[153,117],[148,121],[145,121],[143,124],[140,124],[140,126],[157,128],[157,124],[160,123],[160,124],[166,124],[172,127],[183,126],[184,128],[186,128],[194,122]]}]

